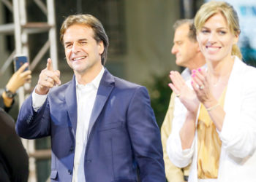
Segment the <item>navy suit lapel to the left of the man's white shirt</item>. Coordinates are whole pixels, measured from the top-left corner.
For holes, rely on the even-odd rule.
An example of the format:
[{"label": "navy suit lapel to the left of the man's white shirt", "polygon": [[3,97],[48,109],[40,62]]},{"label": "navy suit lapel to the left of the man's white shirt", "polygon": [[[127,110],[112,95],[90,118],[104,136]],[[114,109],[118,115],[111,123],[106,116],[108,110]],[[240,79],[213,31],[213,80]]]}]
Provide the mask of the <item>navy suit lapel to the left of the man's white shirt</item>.
[{"label": "navy suit lapel to the left of the man's white shirt", "polygon": [[77,120],[78,120],[78,104],[76,96],[76,86],[75,86],[75,76],[73,76],[71,84],[67,87],[65,92],[65,99],[67,103],[67,112],[72,124],[72,132],[75,136],[77,129]]}]

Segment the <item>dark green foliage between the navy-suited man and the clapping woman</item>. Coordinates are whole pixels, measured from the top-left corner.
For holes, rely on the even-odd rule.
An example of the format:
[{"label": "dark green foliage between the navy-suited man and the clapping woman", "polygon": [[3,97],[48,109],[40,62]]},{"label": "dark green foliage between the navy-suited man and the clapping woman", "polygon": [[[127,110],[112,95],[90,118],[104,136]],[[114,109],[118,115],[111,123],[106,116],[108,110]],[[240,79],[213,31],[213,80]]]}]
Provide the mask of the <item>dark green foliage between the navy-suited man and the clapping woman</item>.
[{"label": "dark green foliage between the navy-suited man and the clapping woman", "polygon": [[161,127],[162,122],[165,119],[172,90],[170,90],[170,87],[168,86],[170,78],[167,74],[162,76],[154,75],[153,78],[154,81],[148,85],[148,92],[151,98],[151,106],[156,115],[157,124]]}]

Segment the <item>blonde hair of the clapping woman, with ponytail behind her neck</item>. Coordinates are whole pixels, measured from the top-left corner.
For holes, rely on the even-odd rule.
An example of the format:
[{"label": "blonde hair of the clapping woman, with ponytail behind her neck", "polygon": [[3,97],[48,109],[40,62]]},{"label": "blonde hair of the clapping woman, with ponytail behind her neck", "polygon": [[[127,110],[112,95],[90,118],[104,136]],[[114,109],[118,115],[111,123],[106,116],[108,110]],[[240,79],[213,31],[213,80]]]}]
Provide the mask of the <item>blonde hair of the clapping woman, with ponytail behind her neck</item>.
[{"label": "blonde hair of the clapping woman, with ponytail behind her neck", "polygon": [[[197,31],[203,27],[206,21],[213,15],[221,13],[227,20],[230,31],[238,36],[240,34],[239,20],[236,10],[232,5],[225,1],[209,1],[203,4],[195,15],[195,28]],[[236,55],[238,58],[242,58],[240,49],[237,44],[233,44],[231,55]]]}]

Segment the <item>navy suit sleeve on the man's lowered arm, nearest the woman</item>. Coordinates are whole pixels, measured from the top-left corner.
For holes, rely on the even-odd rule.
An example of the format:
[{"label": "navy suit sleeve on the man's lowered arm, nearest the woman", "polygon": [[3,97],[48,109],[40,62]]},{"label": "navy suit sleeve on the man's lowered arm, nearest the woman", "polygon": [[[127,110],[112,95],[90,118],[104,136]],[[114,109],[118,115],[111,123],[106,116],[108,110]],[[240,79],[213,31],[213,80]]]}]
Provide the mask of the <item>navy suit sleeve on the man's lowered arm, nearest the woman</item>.
[{"label": "navy suit sleeve on the man's lowered arm, nearest the woman", "polygon": [[127,111],[129,137],[142,182],[165,182],[159,127],[145,87],[138,87]]}]

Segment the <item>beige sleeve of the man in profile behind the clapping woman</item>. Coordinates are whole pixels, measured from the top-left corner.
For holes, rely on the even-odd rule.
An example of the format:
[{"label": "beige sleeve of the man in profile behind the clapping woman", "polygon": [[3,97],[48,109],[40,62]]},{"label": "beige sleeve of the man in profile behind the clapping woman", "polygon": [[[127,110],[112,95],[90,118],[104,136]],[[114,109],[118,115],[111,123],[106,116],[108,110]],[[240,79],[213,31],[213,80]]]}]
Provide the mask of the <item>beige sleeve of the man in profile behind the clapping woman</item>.
[{"label": "beige sleeve of the man in profile behind the clapping woman", "polygon": [[162,149],[164,152],[164,161],[165,161],[165,175],[166,175],[167,181],[169,182],[184,181],[184,174],[181,168],[176,167],[176,165],[173,165],[173,163],[170,162],[170,159],[168,157],[167,150],[166,150],[167,139],[170,135],[171,127],[172,127],[175,98],[176,98],[176,95],[173,92],[173,94],[170,97],[170,104],[169,104],[167,113],[165,115],[165,120],[162,123],[162,127],[161,127]]}]

